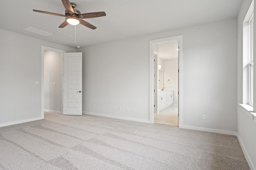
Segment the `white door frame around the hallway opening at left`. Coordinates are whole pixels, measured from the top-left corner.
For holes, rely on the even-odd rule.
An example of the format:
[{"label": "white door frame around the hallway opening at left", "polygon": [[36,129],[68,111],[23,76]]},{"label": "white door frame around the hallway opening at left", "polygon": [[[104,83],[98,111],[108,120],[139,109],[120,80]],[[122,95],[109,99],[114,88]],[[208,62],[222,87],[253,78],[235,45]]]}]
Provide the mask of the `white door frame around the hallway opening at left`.
[{"label": "white door frame around the hallway opening at left", "polygon": [[[45,50],[49,50],[49,51],[55,51],[58,53],[61,53],[61,61],[63,62],[63,53],[66,53],[66,51],[64,50],[60,50],[60,49],[55,49],[52,47],[47,47],[42,45],[41,47],[41,117],[42,119],[44,119],[44,51]],[[63,64],[61,63],[61,72],[63,72]],[[62,79],[62,76],[61,76]],[[62,83],[62,80],[61,80]],[[62,88],[62,84],[61,84],[61,88]],[[61,93],[61,100],[63,98],[63,90],[61,89],[62,93]],[[62,113],[62,103],[61,103],[61,113]]]}]

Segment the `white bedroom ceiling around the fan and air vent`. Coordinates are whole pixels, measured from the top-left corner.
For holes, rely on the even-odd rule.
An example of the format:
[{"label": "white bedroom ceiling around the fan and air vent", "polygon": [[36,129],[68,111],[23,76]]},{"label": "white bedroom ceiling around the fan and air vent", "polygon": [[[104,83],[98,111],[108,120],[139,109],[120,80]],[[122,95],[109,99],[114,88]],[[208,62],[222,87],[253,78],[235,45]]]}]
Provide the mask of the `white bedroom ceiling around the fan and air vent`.
[{"label": "white bedroom ceiling around the fan and air vent", "polygon": [[[64,17],[33,12],[64,14],[61,0],[0,0],[0,28],[68,47],[81,47],[167,31],[200,23],[236,17],[242,0],[70,0],[81,13],[106,12],[100,18],[84,19],[97,29],[74,26],[58,28]],[[34,27],[48,37],[25,31]]]}]

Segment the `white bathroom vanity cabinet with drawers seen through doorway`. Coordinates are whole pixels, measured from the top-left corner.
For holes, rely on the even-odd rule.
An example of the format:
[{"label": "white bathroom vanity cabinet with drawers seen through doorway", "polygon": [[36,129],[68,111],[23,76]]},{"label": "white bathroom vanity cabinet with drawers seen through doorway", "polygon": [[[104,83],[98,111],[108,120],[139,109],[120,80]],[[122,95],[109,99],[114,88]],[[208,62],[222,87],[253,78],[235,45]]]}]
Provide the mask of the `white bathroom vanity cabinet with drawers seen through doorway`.
[{"label": "white bathroom vanity cabinet with drawers seen through doorway", "polygon": [[173,104],[173,91],[158,92],[158,110],[162,110]]}]

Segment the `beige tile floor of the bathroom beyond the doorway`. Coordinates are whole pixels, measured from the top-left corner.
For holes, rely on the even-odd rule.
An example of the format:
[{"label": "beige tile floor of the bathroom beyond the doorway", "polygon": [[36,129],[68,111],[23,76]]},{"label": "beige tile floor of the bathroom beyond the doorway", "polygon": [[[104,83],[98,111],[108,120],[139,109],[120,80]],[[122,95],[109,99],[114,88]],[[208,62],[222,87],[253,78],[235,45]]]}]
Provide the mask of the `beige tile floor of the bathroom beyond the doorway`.
[{"label": "beige tile floor of the bathroom beyond the doorway", "polygon": [[154,113],[154,122],[178,126],[178,106],[170,106]]}]

